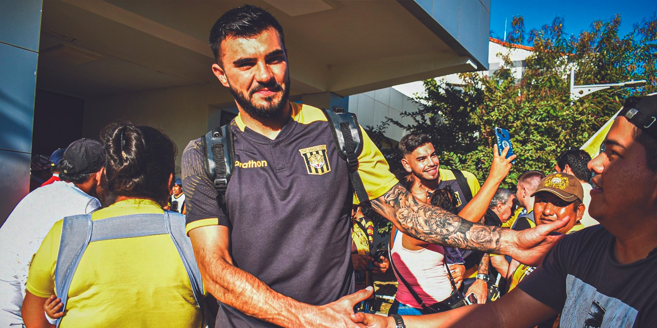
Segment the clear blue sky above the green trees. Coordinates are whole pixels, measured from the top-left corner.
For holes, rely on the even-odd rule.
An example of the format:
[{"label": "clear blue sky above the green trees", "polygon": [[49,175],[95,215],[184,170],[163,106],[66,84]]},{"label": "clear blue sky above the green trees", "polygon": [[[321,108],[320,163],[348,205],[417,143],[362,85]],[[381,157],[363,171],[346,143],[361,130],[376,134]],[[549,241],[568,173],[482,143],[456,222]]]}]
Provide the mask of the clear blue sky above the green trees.
[{"label": "clear blue sky above the green trees", "polygon": [[511,28],[511,18],[522,15],[525,30],[540,28],[551,24],[555,16],[564,18],[564,31],[579,34],[589,30],[595,20],[611,20],[621,14],[620,33],[625,35],[633,24],[641,22],[657,12],[656,0],[491,0],[491,32],[493,36],[504,35],[505,18],[507,31]]}]

